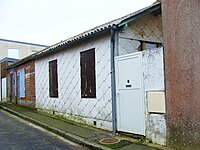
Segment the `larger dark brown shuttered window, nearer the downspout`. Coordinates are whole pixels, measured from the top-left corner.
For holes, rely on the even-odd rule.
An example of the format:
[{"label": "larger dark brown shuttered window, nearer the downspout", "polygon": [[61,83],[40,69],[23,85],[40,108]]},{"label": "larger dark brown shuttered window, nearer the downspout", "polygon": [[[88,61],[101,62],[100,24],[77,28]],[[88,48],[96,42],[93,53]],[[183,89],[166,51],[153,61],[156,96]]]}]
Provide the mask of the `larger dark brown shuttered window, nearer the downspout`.
[{"label": "larger dark brown shuttered window, nearer the downspout", "polygon": [[81,97],[96,97],[95,49],[81,52]]}]

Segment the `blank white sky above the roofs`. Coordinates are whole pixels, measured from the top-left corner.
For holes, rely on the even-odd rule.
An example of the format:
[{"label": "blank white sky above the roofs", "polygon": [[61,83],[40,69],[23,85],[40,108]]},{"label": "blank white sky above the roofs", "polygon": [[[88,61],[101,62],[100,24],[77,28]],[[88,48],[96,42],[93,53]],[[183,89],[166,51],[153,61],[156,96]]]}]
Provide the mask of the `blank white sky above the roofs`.
[{"label": "blank white sky above the roofs", "polygon": [[155,0],[0,0],[0,38],[52,45]]}]

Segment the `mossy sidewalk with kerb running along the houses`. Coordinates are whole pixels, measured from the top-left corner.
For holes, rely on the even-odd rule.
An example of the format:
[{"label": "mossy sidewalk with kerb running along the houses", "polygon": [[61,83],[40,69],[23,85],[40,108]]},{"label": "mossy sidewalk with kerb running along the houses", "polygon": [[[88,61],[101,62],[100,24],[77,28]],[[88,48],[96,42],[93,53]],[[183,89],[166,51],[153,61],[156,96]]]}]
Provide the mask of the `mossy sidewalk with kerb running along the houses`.
[{"label": "mossy sidewalk with kerb running along the houses", "polygon": [[113,138],[111,132],[99,130],[96,128],[88,127],[86,125],[77,124],[67,119],[58,118],[53,115],[43,114],[23,106],[18,106],[10,103],[0,103],[0,108],[4,109],[22,119],[25,119],[31,123],[41,126],[53,133],[56,133],[72,142],[84,145],[90,149],[106,150],[157,150],[166,149],[161,146],[147,146],[145,142],[139,142],[138,140],[130,140],[130,138],[116,136],[120,139],[117,144],[104,145],[100,144],[100,140],[103,138]]}]

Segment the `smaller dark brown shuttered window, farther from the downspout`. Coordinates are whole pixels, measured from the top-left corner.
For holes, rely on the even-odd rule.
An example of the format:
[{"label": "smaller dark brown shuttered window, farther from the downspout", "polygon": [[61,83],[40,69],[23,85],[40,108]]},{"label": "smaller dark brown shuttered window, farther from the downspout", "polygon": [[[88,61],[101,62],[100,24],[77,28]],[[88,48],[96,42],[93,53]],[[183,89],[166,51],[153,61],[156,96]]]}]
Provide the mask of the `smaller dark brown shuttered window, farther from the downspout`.
[{"label": "smaller dark brown shuttered window, farther from the downspout", "polygon": [[57,60],[49,62],[49,95],[50,97],[58,97]]}]

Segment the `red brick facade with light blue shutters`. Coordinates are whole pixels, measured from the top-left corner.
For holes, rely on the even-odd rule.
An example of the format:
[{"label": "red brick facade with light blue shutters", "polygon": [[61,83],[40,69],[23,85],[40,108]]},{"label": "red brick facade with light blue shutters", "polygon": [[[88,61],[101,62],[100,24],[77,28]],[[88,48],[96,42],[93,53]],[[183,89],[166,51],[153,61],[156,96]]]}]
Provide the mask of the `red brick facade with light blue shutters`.
[{"label": "red brick facade with light blue shutters", "polygon": [[8,70],[7,100],[35,108],[35,62]]}]

